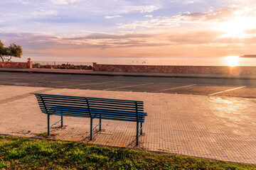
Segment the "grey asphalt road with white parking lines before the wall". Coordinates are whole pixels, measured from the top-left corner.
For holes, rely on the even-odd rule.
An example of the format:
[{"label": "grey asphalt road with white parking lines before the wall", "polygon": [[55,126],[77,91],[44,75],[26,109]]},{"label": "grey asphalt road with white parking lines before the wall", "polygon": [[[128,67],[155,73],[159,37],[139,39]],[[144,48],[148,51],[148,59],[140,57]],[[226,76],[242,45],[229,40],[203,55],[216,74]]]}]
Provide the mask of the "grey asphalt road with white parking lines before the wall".
[{"label": "grey asphalt road with white parking lines before the wall", "polygon": [[1,72],[1,85],[256,98],[255,79],[110,77]]}]

